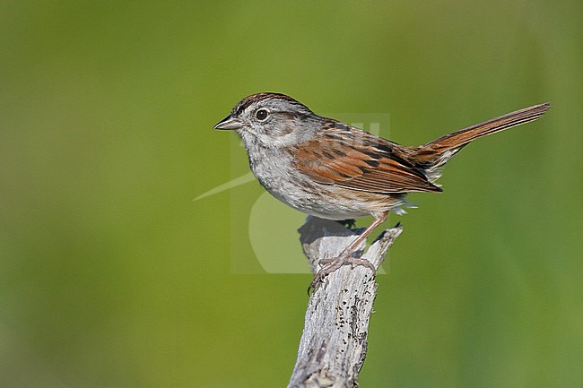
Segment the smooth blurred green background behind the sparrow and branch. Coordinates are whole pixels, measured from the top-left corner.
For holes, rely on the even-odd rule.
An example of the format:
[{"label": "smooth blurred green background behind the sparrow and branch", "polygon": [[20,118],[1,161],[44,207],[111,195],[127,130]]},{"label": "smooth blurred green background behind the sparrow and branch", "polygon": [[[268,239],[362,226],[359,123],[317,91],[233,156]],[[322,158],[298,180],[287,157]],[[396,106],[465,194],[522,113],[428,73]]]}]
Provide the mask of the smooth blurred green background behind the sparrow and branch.
[{"label": "smooth blurred green background behind the sparrow and branch", "polygon": [[[287,384],[309,275],[233,271],[257,182],[193,202],[248,172],[212,127],[257,91],[388,113],[405,144],[551,101],[387,222],[405,233],[361,386],[583,386],[582,20],[580,1],[1,2],[0,386]],[[295,239],[294,217],[265,229]]]}]

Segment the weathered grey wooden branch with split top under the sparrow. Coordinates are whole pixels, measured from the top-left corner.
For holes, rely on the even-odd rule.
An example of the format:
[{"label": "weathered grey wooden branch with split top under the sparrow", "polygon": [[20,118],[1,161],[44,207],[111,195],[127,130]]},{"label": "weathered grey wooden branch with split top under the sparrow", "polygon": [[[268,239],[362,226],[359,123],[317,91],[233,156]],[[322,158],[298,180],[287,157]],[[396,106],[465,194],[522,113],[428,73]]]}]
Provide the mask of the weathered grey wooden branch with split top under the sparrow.
[{"label": "weathered grey wooden branch with split top under the sparrow", "polygon": [[[385,230],[362,257],[379,269],[402,230],[399,225]],[[309,217],[299,231],[304,254],[312,272],[316,272],[320,259],[340,254],[362,229],[351,230],[335,221]],[[345,265],[326,277],[309,297],[298,360],[288,388],[358,386],[376,294],[377,283],[370,268]]]}]

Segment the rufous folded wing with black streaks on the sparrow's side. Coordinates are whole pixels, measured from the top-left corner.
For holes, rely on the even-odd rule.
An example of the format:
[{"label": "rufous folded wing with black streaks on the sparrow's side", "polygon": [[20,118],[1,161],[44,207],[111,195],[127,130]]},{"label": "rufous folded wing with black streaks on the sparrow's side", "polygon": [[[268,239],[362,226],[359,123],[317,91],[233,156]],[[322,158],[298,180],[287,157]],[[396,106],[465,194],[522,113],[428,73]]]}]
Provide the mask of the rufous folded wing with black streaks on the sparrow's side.
[{"label": "rufous folded wing with black streaks on the sparrow's side", "polygon": [[325,125],[292,151],[296,168],[314,181],[379,194],[442,191],[395,143],[333,120]]}]

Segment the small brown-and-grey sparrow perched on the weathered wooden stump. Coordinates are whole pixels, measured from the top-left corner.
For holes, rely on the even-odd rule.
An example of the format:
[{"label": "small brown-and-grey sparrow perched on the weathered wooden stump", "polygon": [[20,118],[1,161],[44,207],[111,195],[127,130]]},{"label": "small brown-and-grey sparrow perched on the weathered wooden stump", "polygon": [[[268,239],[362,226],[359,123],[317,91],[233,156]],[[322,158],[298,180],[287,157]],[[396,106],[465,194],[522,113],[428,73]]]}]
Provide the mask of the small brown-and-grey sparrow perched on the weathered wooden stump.
[{"label": "small brown-and-grey sparrow perched on the weathered wooden stump", "polygon": [[533,121],[549,107],[524,108],[409,147],[318,116],[284,94],[258,93],[241,100],[214,128],[239,134],[253,173],[283,203],[328,220],[374,217],[338,257],[320,262],[311,283],[316,287],[346,263],[374,271],[352,254],[389,211],[402,211],[407,193],[441,192],[435,181],[457,151],[478,137]]}]

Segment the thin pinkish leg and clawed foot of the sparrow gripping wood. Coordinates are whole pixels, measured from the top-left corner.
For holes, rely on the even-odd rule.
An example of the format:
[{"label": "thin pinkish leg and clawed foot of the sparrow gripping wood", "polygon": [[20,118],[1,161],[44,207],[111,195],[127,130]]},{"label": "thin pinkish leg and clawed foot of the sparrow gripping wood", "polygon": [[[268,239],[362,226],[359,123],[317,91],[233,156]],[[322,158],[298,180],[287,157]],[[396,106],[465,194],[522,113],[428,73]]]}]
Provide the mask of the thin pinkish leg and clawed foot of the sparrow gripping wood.
[{"label": "thin pinkish leg and clawed foot of the sparrow gripping wood", "polygon": [[320,260],[320,264],[322,264],[322,268],[316,276],[314,280],[309,284],[311,289],[315,289],[318,286],[318,283],[324,280],[326,276],[332,272],[335,272],[338,268],[342,267],[345,264],[354,265],[364,265],[365,267],[369,267],[372,272],[376,272],[376,268],[366,259],[362,259],[360,257],[352,257],[352,254],[359,246],[361,246],[362,241],[369,237],[372,230],[377,228],[380,224],[382,224],[385,220],[387,220],[388,211],[382,213],[373,214],[375,220],[370,224],[370,226],[361,233],[359,237],[357,237],[349,246],[346,246],[344,250],[338,254],[334,259],[322,259]]}]

